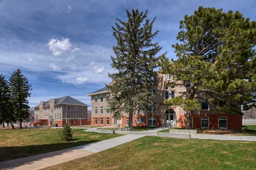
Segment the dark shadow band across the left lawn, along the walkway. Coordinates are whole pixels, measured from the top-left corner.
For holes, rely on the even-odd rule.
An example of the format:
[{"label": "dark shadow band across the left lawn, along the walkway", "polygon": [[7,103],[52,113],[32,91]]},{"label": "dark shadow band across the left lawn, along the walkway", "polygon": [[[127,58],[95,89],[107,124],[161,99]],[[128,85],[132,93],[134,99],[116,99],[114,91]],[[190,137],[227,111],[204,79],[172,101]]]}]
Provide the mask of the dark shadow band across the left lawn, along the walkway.
[{"label": "dark shadow band across the left lawn, along the walkway", "polygon": [[[74,139],[70,142],[60,142],[53,144],[43,144],[43,145],[26,145],[26,146],[5,146],[0,147],[0,165],[2,161],[25,158],[28,156],[59,151],[62,149],[68,149],[71,147],[87,145],[95,142],[99,142],[101,140],[88,140],[88,141],[77,141],[78,139]],[[29,141],[28,141],[29,143]],[[1,167],[1,166],[0,166]]]}]

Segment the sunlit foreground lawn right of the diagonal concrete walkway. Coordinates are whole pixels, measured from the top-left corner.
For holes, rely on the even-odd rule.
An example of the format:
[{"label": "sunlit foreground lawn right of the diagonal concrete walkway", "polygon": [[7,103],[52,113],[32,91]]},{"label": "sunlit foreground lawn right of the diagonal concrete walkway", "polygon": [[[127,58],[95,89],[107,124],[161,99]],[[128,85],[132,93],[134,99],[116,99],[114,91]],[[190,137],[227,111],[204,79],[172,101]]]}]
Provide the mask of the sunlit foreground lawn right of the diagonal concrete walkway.
[{"label": "sunlit foreground lawn right of the diagonal concrete walkway", "polygon": [[256,142],[146,136],[44,170],[255,169]]}]

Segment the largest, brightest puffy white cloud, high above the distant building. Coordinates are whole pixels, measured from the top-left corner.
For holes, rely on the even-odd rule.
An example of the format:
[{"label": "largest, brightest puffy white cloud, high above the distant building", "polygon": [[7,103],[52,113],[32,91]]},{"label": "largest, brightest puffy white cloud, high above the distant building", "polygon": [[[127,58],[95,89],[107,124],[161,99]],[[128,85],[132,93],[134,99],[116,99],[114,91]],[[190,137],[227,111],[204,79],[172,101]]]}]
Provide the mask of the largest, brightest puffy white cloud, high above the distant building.
[{"label": "largest, brightest puffy white cloud, high above the distant building", "polygon": [[68,38],[61,40],[59,39],[50,39],[50,41],[47,44],[49,46],[49,50],[52,52],[53,55],[59,56],[65,51],[68,51],[71,47],[71,43]]}]

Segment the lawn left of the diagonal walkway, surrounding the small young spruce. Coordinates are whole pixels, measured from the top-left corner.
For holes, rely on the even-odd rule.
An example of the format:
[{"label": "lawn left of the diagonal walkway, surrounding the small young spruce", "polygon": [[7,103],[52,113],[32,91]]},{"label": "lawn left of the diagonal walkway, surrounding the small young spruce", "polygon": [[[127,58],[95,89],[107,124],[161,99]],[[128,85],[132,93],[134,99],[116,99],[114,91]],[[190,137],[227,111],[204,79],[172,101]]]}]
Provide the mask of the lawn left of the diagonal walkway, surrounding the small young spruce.
[{"label": "lawn left of the diagonal walkway, surrounding the small young spruce", "polygon": [[[61,129],[59,129],[61,132]],[[120,134],[84,132],[73,129],[73,140],[61,142],[58,129],[0,130],[0,162],[85,145]]]}]

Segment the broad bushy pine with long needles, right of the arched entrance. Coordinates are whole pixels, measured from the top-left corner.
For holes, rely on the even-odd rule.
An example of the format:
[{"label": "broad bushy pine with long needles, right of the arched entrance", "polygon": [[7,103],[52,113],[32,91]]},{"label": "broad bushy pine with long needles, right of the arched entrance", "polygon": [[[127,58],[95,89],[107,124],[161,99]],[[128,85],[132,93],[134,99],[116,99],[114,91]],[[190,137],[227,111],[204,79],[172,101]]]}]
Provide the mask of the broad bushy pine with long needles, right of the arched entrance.
[{"label": "broad bushy pine with long needles, right of the arched entrance", "polygon": [[177,60],[164,57],[159,65],[163,73],[175,74],[169,85],[191,82],[181,96],[164,101],[185,108],[186,128],[191,128],[192,113],[200,109],[203,98],[232,115],[242,115],[241,105],[255,106],[256,22],[239,11],[199,7],[194,15],[185,15],[180,29],[181,43],[172,45]]}]

